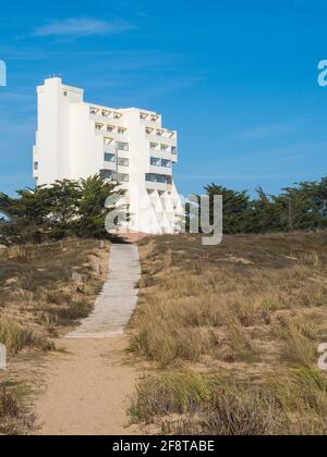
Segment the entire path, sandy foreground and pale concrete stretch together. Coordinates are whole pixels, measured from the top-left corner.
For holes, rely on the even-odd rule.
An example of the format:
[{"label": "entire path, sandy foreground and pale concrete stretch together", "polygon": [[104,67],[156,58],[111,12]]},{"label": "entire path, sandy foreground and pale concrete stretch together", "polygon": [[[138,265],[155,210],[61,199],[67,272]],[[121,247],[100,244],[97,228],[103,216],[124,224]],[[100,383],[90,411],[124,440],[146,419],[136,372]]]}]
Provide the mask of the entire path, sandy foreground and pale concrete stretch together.
[{"label": "entire path, sandy foreground and pale concrete stretch together", "polygon": [[[43,368],[44,392],[36,400],[39,434],[112,435],[126,430],[126,407],[135,368],[126,365],[125,326],[137,304],[138,248],[112,245],[109,275],[90,316],[57,343],[64,353]],[[110,336],[109,336],[110,335]]]}]

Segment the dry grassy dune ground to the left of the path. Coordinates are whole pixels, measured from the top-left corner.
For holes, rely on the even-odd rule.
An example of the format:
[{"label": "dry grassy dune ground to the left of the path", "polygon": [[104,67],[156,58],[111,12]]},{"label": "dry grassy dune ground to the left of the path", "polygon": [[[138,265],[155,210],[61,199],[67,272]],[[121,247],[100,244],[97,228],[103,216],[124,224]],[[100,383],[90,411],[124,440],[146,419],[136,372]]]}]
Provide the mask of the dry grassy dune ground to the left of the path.
[{"label": "dry grassy dune ground to the left of the path", "polygon": [[[31,430],[34,418],[22,406],[31,381],[24,367],[36,366],[57,336],[89,313],[106,274],[94,267],[106,252],[96,240],[76,239],[0,250],[0,343],[9,351],[8,370],[0,371],[0,434]],[[74,271],[87,283],[73,283]]]}]

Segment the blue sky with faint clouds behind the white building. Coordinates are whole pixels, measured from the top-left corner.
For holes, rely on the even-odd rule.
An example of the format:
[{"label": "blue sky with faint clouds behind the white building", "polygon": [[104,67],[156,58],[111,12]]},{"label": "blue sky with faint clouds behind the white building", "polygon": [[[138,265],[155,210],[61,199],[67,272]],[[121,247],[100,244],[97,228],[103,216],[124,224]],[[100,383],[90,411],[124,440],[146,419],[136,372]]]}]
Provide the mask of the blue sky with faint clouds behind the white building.
[{"label": "blue sky with faint clouds behind the white building", "polygon": [[326,175],[326,16],[319,0],[3,2],[0,190],[33,184],[35,87],[53,74],[87,101],[162,113],[184,195]]}]

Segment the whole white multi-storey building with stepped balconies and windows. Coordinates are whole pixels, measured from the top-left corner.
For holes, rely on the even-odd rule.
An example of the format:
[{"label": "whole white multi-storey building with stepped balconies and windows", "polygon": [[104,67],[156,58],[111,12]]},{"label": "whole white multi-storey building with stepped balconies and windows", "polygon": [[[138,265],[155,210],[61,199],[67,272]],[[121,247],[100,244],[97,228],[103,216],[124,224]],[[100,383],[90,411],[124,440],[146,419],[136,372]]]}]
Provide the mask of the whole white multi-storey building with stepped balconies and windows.
[{"label": "whole white multi-storey building with stepped balconies and windows", "polygon": [[177,132],[137,108],[87,103],[84,90],[46,79],[37,88],[38,128],[33,151],[37,185],[100,173],[126,189],[129,228],[173,233],[180,199],[172,180]]}]

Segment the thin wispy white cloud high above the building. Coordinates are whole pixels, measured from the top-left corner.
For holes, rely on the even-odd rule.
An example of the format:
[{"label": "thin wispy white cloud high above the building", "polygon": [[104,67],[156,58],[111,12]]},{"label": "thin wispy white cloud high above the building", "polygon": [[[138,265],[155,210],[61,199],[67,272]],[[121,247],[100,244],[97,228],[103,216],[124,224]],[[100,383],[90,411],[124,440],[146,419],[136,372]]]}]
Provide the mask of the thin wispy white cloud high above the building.
[{"label": "thin wispy white cloud high above the building", "polygon": [[37,37],[86,37],[90,35],[109,35],[131,30],[133,25],[123,21],[101,21],[92,17],[72,17],[65,21],[52,21],[36,27]]}]

